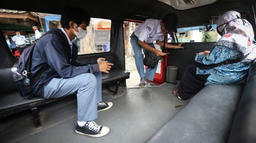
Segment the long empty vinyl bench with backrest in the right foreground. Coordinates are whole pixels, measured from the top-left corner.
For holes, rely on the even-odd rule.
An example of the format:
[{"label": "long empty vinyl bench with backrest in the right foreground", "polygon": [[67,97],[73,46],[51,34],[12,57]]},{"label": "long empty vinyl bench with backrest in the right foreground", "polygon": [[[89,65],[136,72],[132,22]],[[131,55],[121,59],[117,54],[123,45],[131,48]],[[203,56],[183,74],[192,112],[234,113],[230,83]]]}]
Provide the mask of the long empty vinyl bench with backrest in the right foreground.
[{"label": "long empty vinyl bench with backrest in the right foreground", "polygon": [[256,143],[256,60],[247,82],[208,84],[146,143]]}]

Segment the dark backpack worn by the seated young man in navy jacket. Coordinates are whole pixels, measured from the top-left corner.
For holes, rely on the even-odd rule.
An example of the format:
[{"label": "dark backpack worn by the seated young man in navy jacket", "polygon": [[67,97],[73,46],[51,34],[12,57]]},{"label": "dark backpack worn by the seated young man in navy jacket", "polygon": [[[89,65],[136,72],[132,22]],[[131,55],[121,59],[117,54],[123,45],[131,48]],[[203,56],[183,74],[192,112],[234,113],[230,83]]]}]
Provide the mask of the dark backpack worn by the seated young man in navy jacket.
[{"label": "dark backpack worn by the seated young man in navy jacket", "polygon": [[[63,39],[63,36],[59,29],[48,31],[42,37],[44,37],[47,34],[56,34],[57,36]],[[19,64],[17,67],[18,72],[21,75],[24,75],[24,78],[21,80],[15,81],[15,83],[18,88],[18,91],[20,92],[20,95],[26,99],[35,97],[33,93],[32,85],[38,79],[40,79],[42,73],[44,73],[44,71],[46,71],[49,68],[49,65],[45,64],[43,69],[36,75],[36,77],[34,79],[31,79],[30,72],[31,72],[31,64],[32,64],[32,55],[33,55],[33,50],[35,45],[36,43],[24,49],[23,53],[20,56]]]}]

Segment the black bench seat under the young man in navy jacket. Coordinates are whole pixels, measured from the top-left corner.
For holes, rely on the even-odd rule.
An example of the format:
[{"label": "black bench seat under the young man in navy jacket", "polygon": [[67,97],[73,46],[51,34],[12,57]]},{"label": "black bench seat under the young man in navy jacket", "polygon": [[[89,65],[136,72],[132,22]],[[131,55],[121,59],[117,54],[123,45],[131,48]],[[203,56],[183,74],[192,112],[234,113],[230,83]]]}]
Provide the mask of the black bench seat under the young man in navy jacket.
[{"label": "black bench seat under the young man in navy jacket", "polygon": [[[11,68],[6,70],[10,70],[10,69]],[[9,73],[8,76],[12,76],[11,73]],[[108,74],[107,73],[102,74],[102,86],[105,86],[108,92],[113,93],[113,95],[116,95],[118,91],[119,82],[125,79],[129,79],[129,77],[130,77],[129,72],[126,72],[124,70],[119,70],[119,69],[111,69],[111,71]],[[115,91],[112,91],[111,89],[109,89],[110,84],[116,84]],[[0,96],[0,105],[1,105],[0,118],[31,109],[31,113],[34,119],[34,125],[35,127],[40,127],[41,122],[40,122],[37,107],[40,105],[54,102],[56,100],[60,100],[60,99],[61,98],[44,99],[40,97],[25,99],[20,96],[18,91],[11,92],[11,93],[4,93]]]}]

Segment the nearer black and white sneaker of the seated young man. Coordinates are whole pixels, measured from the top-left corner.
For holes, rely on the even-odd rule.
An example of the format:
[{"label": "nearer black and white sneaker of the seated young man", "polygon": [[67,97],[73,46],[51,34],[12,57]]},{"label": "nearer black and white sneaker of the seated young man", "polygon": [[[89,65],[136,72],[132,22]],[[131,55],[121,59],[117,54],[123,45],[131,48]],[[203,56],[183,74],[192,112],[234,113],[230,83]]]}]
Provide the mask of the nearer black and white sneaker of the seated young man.
[{"label": "nearer black and white sneaker of the seated young man", "polygon": [[97,125],[94,121],[88,121],[82,127],[80,127],[76,123],[75,131],[77,134],[91,136],[93,138],[99,138],[109,133],[109,128],[105,126]]}]

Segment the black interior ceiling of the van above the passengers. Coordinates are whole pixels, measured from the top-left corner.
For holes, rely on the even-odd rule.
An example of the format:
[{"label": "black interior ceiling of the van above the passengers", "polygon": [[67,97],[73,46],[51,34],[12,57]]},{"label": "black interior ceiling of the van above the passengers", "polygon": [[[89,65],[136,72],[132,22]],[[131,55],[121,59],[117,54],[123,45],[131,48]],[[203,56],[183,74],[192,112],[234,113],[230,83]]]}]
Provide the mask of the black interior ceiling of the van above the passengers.
[{"label": "black interior ceiling of the van above the passengers", "polygon": [[[178,28],[202,25],[208,23],[209,16],[216,16],[225,11],[238,11],[241,14],[249,14],[246,8],[249,0],[217,0],[213,4],[196,7],[187,10],[177,10],[158,0],[26,0],[16,1],[10,4],[3,1],[0,8],[15,9],[21,11],[32,11],[39,13],[60,14],[66,6],[80,6],[86,9],[93,18],[105,18],[119,21],[124,18],[161,19],[166,13],[176,13],[179,17]],[[247,2],[248,3],[248,2]],[[135,16],[135,15],[142,15]],[[147,18],[143,17],[147,16]]]}]

